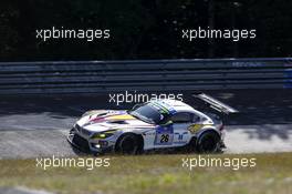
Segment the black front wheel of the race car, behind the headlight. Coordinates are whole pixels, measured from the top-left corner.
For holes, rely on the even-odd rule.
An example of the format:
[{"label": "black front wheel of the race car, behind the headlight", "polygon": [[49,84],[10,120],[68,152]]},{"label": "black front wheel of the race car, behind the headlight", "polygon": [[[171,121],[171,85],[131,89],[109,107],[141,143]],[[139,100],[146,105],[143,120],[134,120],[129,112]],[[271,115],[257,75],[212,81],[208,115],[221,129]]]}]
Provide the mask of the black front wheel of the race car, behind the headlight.
[{"label": "black front wheel of the race car, behind the headlight", "polygon": [[121,136],[116,143],[116,152],[121,154],[135,155],[139,151],[138,137],[128,133]]}]

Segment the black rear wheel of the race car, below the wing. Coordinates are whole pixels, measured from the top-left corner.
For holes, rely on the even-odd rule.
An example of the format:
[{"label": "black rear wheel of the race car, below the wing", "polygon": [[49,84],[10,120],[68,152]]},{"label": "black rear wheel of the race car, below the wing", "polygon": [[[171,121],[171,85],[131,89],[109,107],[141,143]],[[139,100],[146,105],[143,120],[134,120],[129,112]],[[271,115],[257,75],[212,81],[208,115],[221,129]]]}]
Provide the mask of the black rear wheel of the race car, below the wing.
[{"label": "black rear wheel of the race car, below the wing", "polygon": [[199,153],[215,153],[218,151],[220,136],[215,131],[204,132],[197,140],[197,151]]}]

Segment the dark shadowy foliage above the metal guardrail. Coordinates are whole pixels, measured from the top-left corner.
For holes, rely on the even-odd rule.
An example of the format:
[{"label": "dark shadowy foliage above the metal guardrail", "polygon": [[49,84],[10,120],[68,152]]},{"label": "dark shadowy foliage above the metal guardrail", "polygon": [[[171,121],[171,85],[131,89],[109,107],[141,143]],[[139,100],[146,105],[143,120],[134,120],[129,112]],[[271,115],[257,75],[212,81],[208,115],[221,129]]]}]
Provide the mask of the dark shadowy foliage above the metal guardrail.
[{"label": "dark shadowy foliage above the metal guardrail", "polygon": [[[125,60],[292,55],[289,0],[1,0],[0,60]],[[181,29],[257,29],[233,42],[187,42]],[[35,39],[36,29],[111,29],[111,40]]]}]

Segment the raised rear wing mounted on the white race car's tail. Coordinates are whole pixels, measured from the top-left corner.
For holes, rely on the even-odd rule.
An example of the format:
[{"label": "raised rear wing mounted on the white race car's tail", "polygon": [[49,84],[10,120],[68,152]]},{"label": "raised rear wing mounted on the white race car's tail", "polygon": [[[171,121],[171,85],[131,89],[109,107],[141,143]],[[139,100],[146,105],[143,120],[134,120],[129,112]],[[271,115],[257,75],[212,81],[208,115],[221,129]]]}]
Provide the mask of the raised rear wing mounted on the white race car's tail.
[{"label": "raised rear wing mounted on the white race car's tail", "polygon": [[209,108],[219,111],[221,113],[225,114],[233,114],[233,113],[238,113],[239,111],[220,102],[219,100],[207,95],[205,93],[199,93],[199,94],[194,94],[192,96],[195,96],[196,99],[199,99],[201,101],[204,101]]}]

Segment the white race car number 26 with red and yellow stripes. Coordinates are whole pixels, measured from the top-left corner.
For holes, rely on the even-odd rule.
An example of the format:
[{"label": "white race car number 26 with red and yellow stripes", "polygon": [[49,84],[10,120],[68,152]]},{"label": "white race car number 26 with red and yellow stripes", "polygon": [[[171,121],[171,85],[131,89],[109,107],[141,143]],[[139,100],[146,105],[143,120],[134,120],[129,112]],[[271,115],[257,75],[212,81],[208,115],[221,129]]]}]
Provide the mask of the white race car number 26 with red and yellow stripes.
[{"label": "white race car number 26 with red and yellow stripes", "polygon": [[[195,95],[221,113],[237,110],[204,93]],[[132,110],[93,110],[84,113],[67,136],[88,153],[136,154],[147,150],[191,147],[212,153],[225,146],[223,123],[218,115],[200,112],[177,100],[155,100]]]}]

